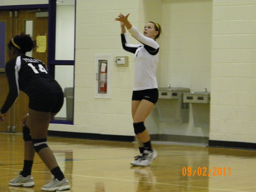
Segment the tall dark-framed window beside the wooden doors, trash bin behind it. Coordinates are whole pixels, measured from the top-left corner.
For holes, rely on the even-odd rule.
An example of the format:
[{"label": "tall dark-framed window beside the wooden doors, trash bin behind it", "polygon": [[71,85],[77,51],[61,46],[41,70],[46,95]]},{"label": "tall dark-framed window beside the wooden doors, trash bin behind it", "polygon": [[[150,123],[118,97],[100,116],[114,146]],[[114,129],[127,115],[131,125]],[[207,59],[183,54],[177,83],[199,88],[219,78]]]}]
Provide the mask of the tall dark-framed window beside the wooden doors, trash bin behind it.
[{"label": "tall dark-framed window beside the wooden doors, trash bin behind it", "polygon": [[49,42],[48,66],[64,92],[64,105],[51,123],[73,124],[75,4],[75,0],[49,4],[49,19],[55,21],[55,26],[50,26],[53,43]]}]

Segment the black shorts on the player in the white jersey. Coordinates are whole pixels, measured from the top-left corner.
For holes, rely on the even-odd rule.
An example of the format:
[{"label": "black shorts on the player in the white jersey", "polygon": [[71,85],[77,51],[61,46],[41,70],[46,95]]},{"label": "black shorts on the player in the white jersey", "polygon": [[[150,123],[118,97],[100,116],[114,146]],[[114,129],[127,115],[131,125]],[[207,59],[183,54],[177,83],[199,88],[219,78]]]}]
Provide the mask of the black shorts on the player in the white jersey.
[{"label": "black shorts on the player in the white jersey", "polygon": [[140,91],[132,92],[132,100],[148,100],[154,104],[156,104],[158,100],[158,89],[145,89]]}]

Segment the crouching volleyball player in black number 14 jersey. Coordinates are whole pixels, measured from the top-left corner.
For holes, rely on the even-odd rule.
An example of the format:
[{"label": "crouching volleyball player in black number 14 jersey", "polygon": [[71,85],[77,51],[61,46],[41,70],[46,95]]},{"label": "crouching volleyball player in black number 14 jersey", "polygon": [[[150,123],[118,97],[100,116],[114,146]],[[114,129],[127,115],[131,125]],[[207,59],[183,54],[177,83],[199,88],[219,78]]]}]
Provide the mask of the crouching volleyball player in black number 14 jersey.
[{"label": "crouching volleyball player in black number 14 jersey", "polygon": [[19,176],[9,182],[12,186],[32,187],[31,176],[35,152],[54,175],[54,179],[44,185],[44,191],[68,190],[68,180],[58,166],[56,159],[47,146],[47,130],[50,120],[60,111],[63,105],[63,92],[52,76],[47,72],[45,64],[26,52],[36,47],[29,35],[14,36],[8,44],[9,61],[5,65],[8,78],[9,93],[0,111],[0,121],[4,121],[6,112],[19,95],[25,92],[29,97],[29,111],[23,118],[23,139],[25,141],[24,166]]}]

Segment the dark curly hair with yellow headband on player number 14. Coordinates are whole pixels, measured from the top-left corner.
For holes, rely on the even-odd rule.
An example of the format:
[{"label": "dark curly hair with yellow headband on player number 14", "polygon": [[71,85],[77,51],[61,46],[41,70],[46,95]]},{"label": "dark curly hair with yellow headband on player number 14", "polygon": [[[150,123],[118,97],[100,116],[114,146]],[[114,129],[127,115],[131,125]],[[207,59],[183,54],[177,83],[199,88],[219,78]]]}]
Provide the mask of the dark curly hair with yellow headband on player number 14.
[{"label": "dark curly hair with yellow headband on player number 14", "polygon": [[20,35],[14,36],[10,40],[8,48],[11,49],[11,47],[18,50],[18,52],[20,52],[21,54],[25,54],[26,52],[30,52],[33,48],[37,46],[36,41],[33,41],[30,35],[21,33]]}]

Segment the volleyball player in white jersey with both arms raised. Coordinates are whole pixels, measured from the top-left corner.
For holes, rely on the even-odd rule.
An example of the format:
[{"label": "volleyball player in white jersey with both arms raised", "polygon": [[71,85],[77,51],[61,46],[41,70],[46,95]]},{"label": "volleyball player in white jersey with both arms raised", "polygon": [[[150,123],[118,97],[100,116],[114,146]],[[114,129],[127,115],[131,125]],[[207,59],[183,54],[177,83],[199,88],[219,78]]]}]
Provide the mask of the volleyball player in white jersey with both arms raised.
[{"label": "volleyball player in white jersey with both arms raised", "polygon": [[[129,14],[119,14],[115,20],[121,22],[121,40],[124,50],[134,53],[135,75],[132,92],[133,128],[138,142],[140,156],[131,162],[134,166],[147,166],[156,158],[157,152],[151,146],[148,130],[144,122],[158,100],[156,67],[159,58],[159,45],[156,39],[160,36],[161,26],[148,22],[141,34],[128,20]],[[141,44],[129,44],[126,29]]]}]

